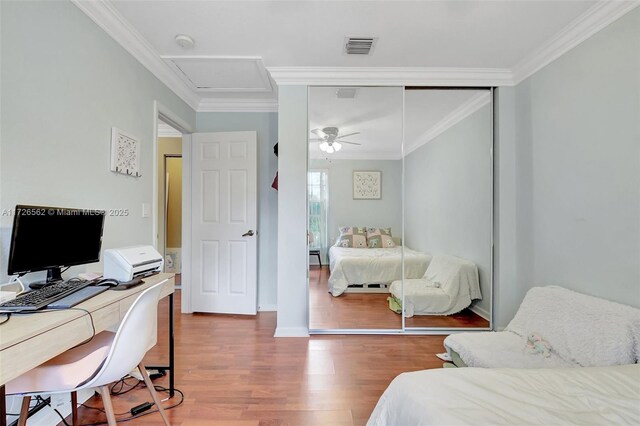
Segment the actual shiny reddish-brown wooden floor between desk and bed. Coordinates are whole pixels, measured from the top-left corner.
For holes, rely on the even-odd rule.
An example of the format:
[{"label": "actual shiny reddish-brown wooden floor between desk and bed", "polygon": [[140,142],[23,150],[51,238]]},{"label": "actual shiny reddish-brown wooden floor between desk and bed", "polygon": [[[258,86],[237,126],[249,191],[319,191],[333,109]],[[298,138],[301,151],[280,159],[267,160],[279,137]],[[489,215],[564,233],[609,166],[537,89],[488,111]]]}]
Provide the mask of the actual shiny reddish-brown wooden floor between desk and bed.
[{"label": "actual shiny reddish-brown wooden floor between desk and bed", "polygon": [[[434,354],[443,351],[444,336],[276,339],[273,312],[182,315],[179,299],[178,293],[176,385],[185,400],[168,411],[172,425],[363,425],[395,376],[442,365]],[[145,358],[148,365],[166,360],[166,300],[160,317],[160,338]],[[156,383],[166,386],[167,378]],[[113,397],[116,413],[145,401],[150,398],[144,388]],[[102,407],[99,397],[86,404]],[[105,420],[96,410],[79,412],[83,425]],[[156,413],[126,424],[162,422]]]}]

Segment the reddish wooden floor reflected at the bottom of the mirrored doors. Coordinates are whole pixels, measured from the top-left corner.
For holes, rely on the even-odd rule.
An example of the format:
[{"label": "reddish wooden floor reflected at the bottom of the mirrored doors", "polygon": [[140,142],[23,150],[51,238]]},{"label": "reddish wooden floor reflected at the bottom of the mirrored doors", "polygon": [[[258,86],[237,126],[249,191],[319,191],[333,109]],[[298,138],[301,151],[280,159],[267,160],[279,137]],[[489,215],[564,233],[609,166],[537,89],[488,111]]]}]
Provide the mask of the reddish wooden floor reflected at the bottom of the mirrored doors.
[{"label": "reddish wooden floor reflected at the bottom of the mirrored doors", "polygon": [[[311,266],[309,271],[309,328],[400,329],[402,318],[388,308],[389,293],[328,293],[329,269]],[[489,321],[468,309],[454,315],[415,315],[406,327],[483,328]]]}]

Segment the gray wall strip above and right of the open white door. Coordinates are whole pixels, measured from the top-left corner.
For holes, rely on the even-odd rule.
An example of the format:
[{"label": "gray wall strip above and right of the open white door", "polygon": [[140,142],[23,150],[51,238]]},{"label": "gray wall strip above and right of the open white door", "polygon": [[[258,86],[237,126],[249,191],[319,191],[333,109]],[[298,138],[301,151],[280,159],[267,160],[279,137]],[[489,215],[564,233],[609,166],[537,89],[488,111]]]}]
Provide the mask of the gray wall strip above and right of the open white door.
[{"label": "gray wall strip above and right of the open white door", "polygon": [[273,145],[278,140],[275,112],[199,112],[198,132],[258,132],[258,308],[275,310],[278,261],[278,192],[271,183],[278,169]]}]

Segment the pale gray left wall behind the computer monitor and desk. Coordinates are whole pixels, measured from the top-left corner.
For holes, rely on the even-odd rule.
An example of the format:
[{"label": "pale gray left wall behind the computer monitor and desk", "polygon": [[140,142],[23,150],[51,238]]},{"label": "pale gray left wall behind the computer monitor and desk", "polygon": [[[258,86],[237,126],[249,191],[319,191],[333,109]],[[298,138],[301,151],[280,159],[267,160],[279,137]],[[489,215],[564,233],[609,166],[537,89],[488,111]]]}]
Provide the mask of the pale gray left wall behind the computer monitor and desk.
[{"label": "pale gray left wall behind the computer monitor and desk", "polygon": [[[153,102],[195,127],[194,111],[73,4],[1,8],[2,209],[129,209],[106,218],[103,248],[152,244],[153,219],[141,213],[153,203]],[[112,126],[141,140],[141,178],[109,171]],[[2,281],[12,220],[0,220]]]}]

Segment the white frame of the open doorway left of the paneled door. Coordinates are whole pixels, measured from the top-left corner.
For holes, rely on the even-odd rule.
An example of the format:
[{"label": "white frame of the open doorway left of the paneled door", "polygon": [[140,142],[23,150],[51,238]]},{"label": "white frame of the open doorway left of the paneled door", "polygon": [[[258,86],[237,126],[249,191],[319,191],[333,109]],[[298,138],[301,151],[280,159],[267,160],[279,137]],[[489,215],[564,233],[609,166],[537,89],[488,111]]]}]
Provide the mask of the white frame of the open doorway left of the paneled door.
[{"label": "white frame of the open doorway left of the paneled door", "polygon": [[[191,145],[191,133],[195,129],[185,120],[180,118],[178,114],[173,112],[170,108],[163,105],[158,100],[153,101],[153,182],[152,182],[152,215],[151,220],[153,225],[151,227],[151,241],[153,247],[158,249],[158,120],[162,119],[165,123],[170,124],[176,130],[182,132],[182,261],[191,262],[191,252],[186,247],[191,245],[191,193],[186,193],[185,190],[189,190],[191,187],[191,157],[188,153],[189,150],[185,150],[185,146]],[[189,177],[188,185],[187,178]],[[185,216],[186,215],[186,216]],[[185,232],[189,230],[189,232]],[[188,283],[191,278],[191,270],[189,268],[182,268],[182,283]],[[183,313],[191,312],[191,291],[188,285],[182,285],[181,293],[181,306]]]}]

